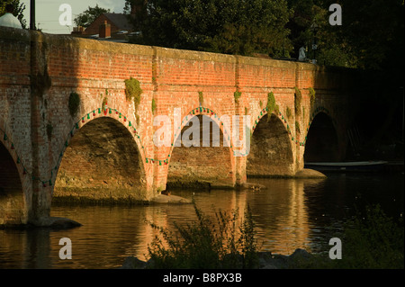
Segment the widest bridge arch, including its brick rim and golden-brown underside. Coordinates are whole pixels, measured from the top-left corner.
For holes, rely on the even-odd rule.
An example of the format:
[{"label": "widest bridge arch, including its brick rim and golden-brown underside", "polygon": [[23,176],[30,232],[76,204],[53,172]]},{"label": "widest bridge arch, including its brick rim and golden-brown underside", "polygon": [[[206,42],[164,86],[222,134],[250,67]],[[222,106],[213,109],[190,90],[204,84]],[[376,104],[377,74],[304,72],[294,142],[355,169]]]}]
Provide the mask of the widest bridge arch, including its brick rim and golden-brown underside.
[{"label": "widest bridge arch, including its brick rim and golden-brown underside", "polygon": [[76,124],[74,130],[59,156],[53,200],[71,196],[96,202],[148,200],[139,135],[113,113]]}]

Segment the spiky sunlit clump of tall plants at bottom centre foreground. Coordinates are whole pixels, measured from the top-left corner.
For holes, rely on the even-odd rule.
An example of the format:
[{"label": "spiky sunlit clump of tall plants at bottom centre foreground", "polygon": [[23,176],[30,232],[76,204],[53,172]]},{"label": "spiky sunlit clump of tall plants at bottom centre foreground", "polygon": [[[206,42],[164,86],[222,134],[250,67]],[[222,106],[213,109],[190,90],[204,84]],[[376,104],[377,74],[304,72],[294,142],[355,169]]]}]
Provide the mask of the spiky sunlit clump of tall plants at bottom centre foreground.
[{"label": "spiky sunlit clump of tall plants at bottom centre foreground", "polygon": [[[151,268],[256,268],[257,239],[250,209],[237,228],[238,212],[230,215],[215,211],[213,220],[205,216],[194,203],[197,222],[179,226],[176,232],[149,224],[162,238],[148,246]],[[166,244],[164,244],[166,241]]]}]

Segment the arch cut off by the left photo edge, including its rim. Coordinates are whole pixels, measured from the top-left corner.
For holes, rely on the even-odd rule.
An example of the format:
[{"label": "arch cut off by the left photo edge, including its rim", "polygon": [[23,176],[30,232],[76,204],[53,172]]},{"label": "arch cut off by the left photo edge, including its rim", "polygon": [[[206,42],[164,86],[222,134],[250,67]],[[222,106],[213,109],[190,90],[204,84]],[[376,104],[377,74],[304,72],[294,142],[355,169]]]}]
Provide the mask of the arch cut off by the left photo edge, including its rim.
[{"label": "arch cut off by the left photo edge, including its rim", "polygon": [[15,148],[12,139],[5,132],[0,136],[0,225],[24,224],[28,220],[28,191],[23,189],[21,159],[10,150]]}]

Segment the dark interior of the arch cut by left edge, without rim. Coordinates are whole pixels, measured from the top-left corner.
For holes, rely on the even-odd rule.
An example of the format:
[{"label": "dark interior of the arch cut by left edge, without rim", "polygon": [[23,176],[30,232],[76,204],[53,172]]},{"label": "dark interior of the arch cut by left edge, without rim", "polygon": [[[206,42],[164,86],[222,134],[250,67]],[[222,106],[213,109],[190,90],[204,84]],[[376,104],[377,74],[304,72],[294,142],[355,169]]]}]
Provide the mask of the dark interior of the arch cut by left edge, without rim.
[{"label": "dark interior of the arch cut by left edge, without rim", "polygon": [[0,224],[23,223],[23,185],[17,166],[0,143]]}]

